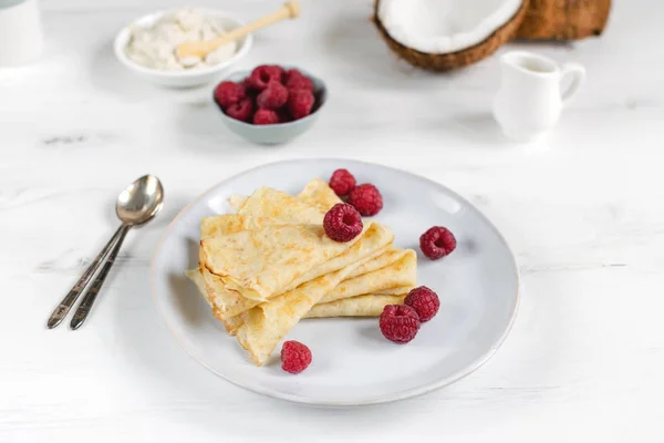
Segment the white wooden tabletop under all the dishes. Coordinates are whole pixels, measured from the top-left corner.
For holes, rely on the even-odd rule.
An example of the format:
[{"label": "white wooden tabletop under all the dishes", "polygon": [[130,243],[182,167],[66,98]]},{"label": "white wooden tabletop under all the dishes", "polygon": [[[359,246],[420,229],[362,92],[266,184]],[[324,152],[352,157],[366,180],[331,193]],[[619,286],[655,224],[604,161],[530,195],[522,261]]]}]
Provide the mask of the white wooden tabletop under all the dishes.
[{"label": "white wooden tabletop under all the dishes", "polygon": [[[115,31],[181,4],[136,3],[45,0],[46,53],[0,70],[1,442],[663,441],[662,2],[614,2],[601,39],[510,45],[588,68],[557,130],[518,146],[489,115],[496,58],[422,73],[380,40],[369,0],[305,1],[238,66],[300,64],[328,81],[319,124],[281,148],[228,133],[209,89],[159,90],[123,70]],[[280,1],[198,3],[249,20]],[[236,172],[317,156],[436,179],[505,234],[523,297],[485,367],[409,401],[321,410],[230,385],[173,340],[147,276],[170,219]],[[129,233],[89,322],[48,330],[115,229],[117,193],[144,173],[164,182],[164,213]]]}]

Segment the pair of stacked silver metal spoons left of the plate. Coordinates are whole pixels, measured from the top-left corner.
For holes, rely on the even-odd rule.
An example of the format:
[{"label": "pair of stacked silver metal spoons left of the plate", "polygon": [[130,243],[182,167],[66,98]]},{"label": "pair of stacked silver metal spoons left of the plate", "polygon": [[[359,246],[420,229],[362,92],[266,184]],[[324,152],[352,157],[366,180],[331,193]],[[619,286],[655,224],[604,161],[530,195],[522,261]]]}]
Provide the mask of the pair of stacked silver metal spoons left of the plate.
[{"label": "pair of stacked silver metal spoons left of the plate", "polygon": [[153,175],[145,175],[138,178],[136,182],[127,186],[117,197],[115,204],[115,213],[121,219],[122,225],[117,228],[111,240],[106,244],[104,249],[100,253],[90,267],[83,272],[81,279],[74,285],[66,297],[60,302],[58,308],[53,311],[49,318],[49,329],[55,328],[66,317],[72,306],[76,302],[76,299],[85,289],[85,286],[90,282],[90,279],[102,264],[102,260],[108,251],[108,258],[104,262],[102,270],[94,280],[92,287],[85,293],[83,301],[79,305],[74,318],[70,327],[72,329],[79,329],[81,324],[87,318],[87,313],[96,299],[96,296],[117,257],[117,253],[122,247],[122,243],[127,231],[137,225],[143,225],[156,216],[162,206],[164,205],[164,187],[159,179]]}]

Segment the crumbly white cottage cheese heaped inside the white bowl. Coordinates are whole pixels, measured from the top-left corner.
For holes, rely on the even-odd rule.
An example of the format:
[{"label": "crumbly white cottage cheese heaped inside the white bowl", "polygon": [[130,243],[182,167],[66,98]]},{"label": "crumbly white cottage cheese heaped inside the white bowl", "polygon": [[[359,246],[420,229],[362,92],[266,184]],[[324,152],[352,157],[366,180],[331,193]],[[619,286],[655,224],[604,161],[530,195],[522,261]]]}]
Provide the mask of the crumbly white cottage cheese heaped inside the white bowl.
[{"label": "crumbly white cottage cheese heaped inside the white bowl", "polygon": [[188,41],[216,39],[226,32],[214,19],[191,9],[167,12],[152,27],[131,27],[127,56],[145,68],[159,71],[183,71],[212,66],[231,58],[237,51],[236,42],[218,48],[205,59],[188,56],[178,59],[175,48]]}]

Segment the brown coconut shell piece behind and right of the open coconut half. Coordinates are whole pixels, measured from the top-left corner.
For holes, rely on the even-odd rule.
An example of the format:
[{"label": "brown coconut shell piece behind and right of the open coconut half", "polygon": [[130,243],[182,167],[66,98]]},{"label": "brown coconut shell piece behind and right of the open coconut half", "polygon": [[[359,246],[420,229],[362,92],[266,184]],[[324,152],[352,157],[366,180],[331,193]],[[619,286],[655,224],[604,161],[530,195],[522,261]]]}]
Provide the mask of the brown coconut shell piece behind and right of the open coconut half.
[{"label": "brown coconut shell piece behind and right of the open coconut half", "polygon": [[611,0],[530,0],[517,37],[528,40],[581,40],[601,35]]}]

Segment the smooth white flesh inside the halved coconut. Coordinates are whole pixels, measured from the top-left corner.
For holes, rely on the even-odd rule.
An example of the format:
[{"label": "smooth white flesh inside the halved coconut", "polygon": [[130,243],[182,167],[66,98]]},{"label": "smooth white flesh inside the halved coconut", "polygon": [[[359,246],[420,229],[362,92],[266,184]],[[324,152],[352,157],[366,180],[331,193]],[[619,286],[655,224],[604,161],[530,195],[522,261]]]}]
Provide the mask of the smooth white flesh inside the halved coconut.
[{"label": "smooth white flesh inside the halved coconut", "polygon": [[481,43],[520,7],[521,0],[381,0],[378,20],[404,47],[447,54]]}]

